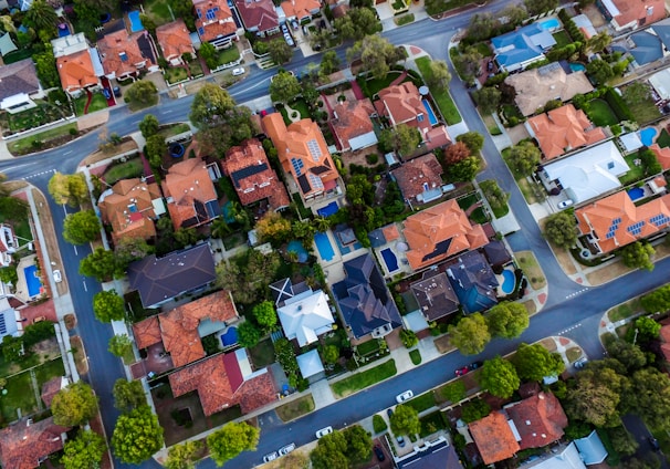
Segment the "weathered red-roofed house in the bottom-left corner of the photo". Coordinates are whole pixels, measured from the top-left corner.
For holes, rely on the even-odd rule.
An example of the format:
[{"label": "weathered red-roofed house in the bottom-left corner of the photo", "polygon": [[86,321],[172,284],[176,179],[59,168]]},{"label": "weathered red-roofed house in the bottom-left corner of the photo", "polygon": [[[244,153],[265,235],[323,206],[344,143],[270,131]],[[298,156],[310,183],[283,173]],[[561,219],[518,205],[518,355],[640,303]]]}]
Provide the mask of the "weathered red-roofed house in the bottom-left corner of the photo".
[{"label": "weathered red-roofed house in the bottom-left corner of the photo", "polygon": [[70,428],[44,420],[21,420],[0,430],[0,463],[3,468],[34,469],[50,455],[63,449]]}]

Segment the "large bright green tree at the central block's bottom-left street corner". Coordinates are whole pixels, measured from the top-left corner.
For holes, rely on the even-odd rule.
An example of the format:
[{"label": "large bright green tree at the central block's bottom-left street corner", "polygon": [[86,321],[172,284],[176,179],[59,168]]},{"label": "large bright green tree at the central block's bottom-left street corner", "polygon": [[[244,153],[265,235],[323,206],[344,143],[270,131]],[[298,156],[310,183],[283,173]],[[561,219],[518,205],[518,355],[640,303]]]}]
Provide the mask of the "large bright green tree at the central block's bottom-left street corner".
[{"label": "large bright green tree at the central block's bottom-left street corner", "polygon": [[149,406],[140,406],[116,420],[112,435],[114,454],[123,462],[139,465],[163,447],[163,428]]}]

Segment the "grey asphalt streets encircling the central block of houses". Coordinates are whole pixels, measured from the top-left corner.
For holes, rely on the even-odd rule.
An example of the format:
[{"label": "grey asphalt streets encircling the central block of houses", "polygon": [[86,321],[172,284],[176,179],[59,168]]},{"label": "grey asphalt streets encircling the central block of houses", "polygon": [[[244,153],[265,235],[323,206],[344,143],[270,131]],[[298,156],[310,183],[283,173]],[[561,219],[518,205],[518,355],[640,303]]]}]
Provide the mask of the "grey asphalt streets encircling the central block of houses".
[{"label": "grey asphalt streets encircling the central block of houses", "polygon": [[[488,6],[458,17],[449,18],[440,22],[430,20],[419,21],[401,29],[384,33],[396,44],[418,45],[429,52],[436,59],[448,59],[447,43],[449,38],[459,28],[464,28],[473,13],[496,12],[507,2],[493,2]],[[337,50],[343,58],[345,46]],[[318,63],[320,56],[303,58],[297,54],[291,64],[285,66],[295,72],[302,71],[310,63]],[[257,71],[244,81],[231,86],[229,91],[238,102],[247,102],[266,94],[270,77],[274,71]],[[670,259],[657,263],[653,274],[642,271],[632,272],[625,278],[618,279],[600,288],[588,289],[578,296],[566,296],[582,290],[570,281],[561,270],[554,259],[548,246],[543,240],[540,229],[532,218],[525,201],[516,188],[500,154],[488,136],[486,128],[479,118],[477,110],[472,106],[470,97],[463,84],[453,73],[451,93],[459,106],[459,111],[472,131],[485,135],[484,156],[488,163],[486,170],[480,175],[482,178],[494,178],[503,190],[511,194],[510,205],[516,215],[522,230],[509,237],[514,250],[531,249],[535,252],[548,282],[548,301],[541,314],[531,321],[528,330],[516,341],[496,340],[492,342],[485,353],[478,359],[490,358],[496,354],[505,354],[513,351],[520,342],[534,342],[547,335],[557,334],[570,329],[565,334],[575,338],[590,357],[601,356],[601,347],[597,340],[598,321],[608,308],[618,304],[630,296],[643,293],[656,286],[668,282]],[[146,114],[155,114],[161,123],[186,121],[192,96],[180,100],[170,100],[161,96],[157,107],[130,114],[126,107],[111,111],[109,122],[106,125],[108,133],[126,135],[137,131],[137,124]],[[46,192],[46,185],[51,173],[43,174],[49,169],[57,169],[62,173],[74,173],[76,165],[86,155],[96,149],[98,132],[77,139],[63,147],[46,150],[38,155],[23,158],[0,161],[0,171],[6,173],[10,179],[25,178],[31,184]],[[56,232],[62,232],[64,218],[63,207],[55,205],[50,198],[50,207],[54,218]],[[118,413],[113,407],[111,395],[112,385],[119,377],[125,377],[121,362],[107,352],[107,341],[112,336],[109,325],[97,322],[92,313],[93,295],[101,290],[92,279],[78,274],[78,262],[88,252],[87,247],[77,248],[77,252],[69,243],[59,238],[64,273],[67,275],[74,309],[78,319],[77,332],[84,338],[86,353],[90,357],[91,372],[86,377],[100,396],[103,421],[107,436],[111,437]],[[84,286],[85,285],[85,286]],[[332,406],[320,409],[292,424],[281,425],[278,423],[274,411],[261,416],[266,425],[263,426],[261,441],[258,451],[244,452],[230,462],[231,467],[247,468],[261,462],[262,455],[280,448],[291,441],[297,445],[305,444],[314,438],[314,431],[324,426],[332,425],[342,428],[346,424],[354,423],[373,413],[395,404],[394,396],[402,389],[411,387],[415,394],[428,390],[453,376],[453,369],[470,363],[473,357],[463,357],[459,353],[449,354],[441,358],[429,362],[413,371],[381,383],[363,393],[339,400]],[[411,383],[408,386],[407,383]],[[126,467],[116,461],[116,467]],[[127,466],[130,467],[130,466]],[[142,467],[158,467],[150,460]],[[213,468],[211,460],[199,465],[202,468]]]}]

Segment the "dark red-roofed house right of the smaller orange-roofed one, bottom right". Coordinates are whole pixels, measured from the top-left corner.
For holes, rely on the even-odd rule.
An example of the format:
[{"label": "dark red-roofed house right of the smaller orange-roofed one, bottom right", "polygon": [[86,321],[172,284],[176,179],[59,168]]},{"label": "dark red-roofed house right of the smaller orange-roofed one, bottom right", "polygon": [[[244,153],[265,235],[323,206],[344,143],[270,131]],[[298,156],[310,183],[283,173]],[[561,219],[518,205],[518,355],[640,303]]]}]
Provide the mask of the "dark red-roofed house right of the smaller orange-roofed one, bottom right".
[{"label": "dark red-roofed house right of the smaller orange-roofed one, bottom right", "polygon": [[540,393],[505,406],[505,411],[521,436],[521,449],[551,445],[563,437],[563,429],[567,427],[563,407],[552,393]]}]

